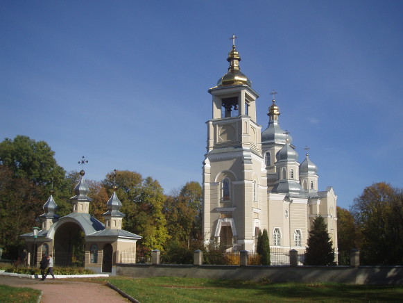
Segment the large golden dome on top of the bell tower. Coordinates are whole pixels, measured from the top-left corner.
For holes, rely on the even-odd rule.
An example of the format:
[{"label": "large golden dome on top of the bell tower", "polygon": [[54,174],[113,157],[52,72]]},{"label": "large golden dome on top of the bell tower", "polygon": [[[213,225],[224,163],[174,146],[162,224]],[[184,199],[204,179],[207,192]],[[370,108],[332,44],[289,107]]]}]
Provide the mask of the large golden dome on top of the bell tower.
[{"label": "large golden dome on top of the bell tower", "polygon": [[218,80],[217,87],[243,84],[249,85],[251,87],[252,82],[240,71],[239,61],[241,61],[241,57],[239,56],[239,52],[235,48],[235,45],[232,45],[232,50],[230,51],[230,54],[228,54],[227,61],[230,63],[230,67],[228,67],[228,73]]}]

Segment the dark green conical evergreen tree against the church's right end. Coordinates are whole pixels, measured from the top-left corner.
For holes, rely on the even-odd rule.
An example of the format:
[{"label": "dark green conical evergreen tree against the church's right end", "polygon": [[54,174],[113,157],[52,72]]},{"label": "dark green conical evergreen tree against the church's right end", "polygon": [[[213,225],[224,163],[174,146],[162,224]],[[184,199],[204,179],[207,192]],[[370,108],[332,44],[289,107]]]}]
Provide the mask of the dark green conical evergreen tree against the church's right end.
[{"label": "dark green conical evergreen tree against the church's right end", "polygon": [[318,215],[309,231],[305,265],[333,265],[334,249],[323,217]]}]

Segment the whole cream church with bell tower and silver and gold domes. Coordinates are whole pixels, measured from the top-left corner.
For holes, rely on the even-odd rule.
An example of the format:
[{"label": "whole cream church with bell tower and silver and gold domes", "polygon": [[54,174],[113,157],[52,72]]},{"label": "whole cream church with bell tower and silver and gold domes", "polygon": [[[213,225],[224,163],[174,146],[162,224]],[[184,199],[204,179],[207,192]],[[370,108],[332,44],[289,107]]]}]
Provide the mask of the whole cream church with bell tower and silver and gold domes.
[{"label": "whole cream church with bell tower and silver and gold domes", "polygon": [[234,39],[228,72],[208,90],[212,118],[203,162],[205,244],[255,252],[259,230],[266,229],[271,249],[303,252],[311,224],[320,215],[337,256],[337,196],[332,187],[318,190],[318,167],[308,152],[298,162],[291,136],[280,127],[274,90],[268,127],[261,131],[259,95],[241,72]]}]

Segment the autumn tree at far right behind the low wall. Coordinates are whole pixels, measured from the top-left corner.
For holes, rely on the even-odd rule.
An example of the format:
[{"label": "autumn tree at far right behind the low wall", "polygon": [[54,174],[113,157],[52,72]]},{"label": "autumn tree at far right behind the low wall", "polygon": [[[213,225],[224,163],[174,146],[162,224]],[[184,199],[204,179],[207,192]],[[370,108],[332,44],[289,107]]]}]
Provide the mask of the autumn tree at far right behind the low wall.
[{"label": "autumn tree at far right behind the low wall", "polygon": [[354,199],[350,211],[361,233],[361,263],[403,265],[403,193],[374,183]]}]

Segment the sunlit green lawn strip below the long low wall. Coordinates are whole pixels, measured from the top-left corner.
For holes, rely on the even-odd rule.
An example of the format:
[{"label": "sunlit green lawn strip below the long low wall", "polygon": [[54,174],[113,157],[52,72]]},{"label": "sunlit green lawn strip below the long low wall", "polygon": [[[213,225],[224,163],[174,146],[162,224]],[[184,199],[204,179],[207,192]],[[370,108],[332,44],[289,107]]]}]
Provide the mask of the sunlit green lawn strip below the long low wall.
[{"label": "sunlit green lawn strip below the long low wall", "polygon": [[271,284],[153,277],[108,279],[141,303],[147,302],[403,302],[403,286],[345,284]]}]

